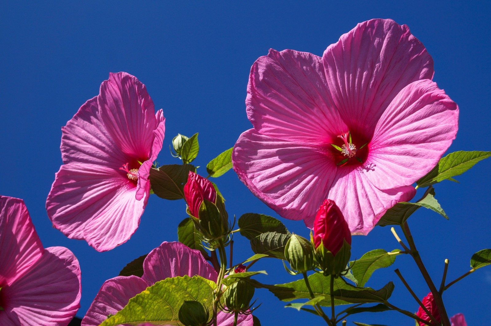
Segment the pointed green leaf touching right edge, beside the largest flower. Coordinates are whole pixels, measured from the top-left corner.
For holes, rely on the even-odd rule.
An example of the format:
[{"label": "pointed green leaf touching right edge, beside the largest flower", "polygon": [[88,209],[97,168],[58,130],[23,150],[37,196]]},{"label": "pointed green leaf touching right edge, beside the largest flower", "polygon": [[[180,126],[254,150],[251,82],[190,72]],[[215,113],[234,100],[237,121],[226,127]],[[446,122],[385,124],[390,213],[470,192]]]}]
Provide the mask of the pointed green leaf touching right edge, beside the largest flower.
[{"label": "pointed green leaf touching right edge, beside the largest flower", "polygon": [[428,187],[440,181],[451,179],[456,175],[461,175],[479,161],[487,159],[490,156],[491,152],[481,151],[458,151],[450,153],[444,158],[440,159],[440,162],[438,162],[433,170],[419,179],[416,184],[419,187]]}]

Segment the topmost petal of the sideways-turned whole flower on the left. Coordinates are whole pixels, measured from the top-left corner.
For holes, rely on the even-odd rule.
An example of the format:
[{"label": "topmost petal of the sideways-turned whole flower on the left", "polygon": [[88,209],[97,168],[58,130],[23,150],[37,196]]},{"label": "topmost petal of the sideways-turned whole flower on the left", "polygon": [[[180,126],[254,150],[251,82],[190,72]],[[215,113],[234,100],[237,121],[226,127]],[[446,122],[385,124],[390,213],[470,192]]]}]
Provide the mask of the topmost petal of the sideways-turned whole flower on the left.
[{"label": "topmost petal of the sideways-turned whole flower on the left", "polygon": [[114,145],[124,154],[146,161],[158,122],[145,85],[127,73],[110,73],[97,98],[101,118]]}]

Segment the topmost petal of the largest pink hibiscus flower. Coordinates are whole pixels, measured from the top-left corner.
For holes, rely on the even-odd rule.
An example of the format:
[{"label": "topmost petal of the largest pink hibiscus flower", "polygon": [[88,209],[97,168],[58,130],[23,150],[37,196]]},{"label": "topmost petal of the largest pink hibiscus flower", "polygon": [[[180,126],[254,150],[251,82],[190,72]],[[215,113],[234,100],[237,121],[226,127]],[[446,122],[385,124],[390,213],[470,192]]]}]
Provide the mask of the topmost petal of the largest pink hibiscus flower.
[{"label": "topmost petal of the largest pink hibiscus flower", "polygon": [[373,131],[392,99],[412,81],[433,78],[433,59],[406,25],[358,24],[322,56],[328,89],[350,129]]}]

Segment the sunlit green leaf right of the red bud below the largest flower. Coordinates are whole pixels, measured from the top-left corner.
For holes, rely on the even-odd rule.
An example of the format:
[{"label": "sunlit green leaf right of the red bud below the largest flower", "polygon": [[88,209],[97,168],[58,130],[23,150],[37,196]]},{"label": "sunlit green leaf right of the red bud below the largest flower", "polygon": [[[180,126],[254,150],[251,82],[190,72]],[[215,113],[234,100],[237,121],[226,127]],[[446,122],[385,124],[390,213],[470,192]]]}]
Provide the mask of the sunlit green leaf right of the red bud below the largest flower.
[{"label": "sunlit green leaf right of the red bud below the largest flower", "polygon": [[[401,251],[400,249],[392,250],[392,252]],[[353,276],[358,281],[358,286],[363,287],[368,281],[372,273],[379,268],[386,268],[392,265],[396,260],[396,255],[389,255],[383,249],[376,249],[367,252],[360,259],[350,262]]]}]

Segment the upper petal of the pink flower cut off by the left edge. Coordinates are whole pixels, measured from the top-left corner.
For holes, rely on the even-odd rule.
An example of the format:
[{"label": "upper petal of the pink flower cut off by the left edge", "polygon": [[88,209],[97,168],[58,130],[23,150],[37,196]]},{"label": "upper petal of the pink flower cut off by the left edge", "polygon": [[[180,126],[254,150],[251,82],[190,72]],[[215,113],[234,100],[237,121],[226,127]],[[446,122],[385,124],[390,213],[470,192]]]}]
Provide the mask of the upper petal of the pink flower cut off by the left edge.
[{"label": "upper petal of the pink flower cut off by the left edge", "polygon": [[43,251],[24,201],[0,196],[0,286],[24,275]]}]

